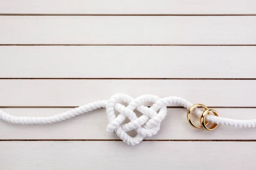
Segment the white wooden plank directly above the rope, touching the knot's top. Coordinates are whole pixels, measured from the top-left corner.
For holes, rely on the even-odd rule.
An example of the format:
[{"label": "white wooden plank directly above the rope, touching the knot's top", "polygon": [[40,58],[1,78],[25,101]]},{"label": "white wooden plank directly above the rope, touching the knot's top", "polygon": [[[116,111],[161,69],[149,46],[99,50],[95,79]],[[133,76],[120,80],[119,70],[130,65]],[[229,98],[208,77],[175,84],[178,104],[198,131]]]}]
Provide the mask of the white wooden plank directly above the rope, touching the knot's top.
[{"label": "white wooden plank directly above the rope, touching the knot's top", "polygon": [[1,79],[0,87],[1,106],[80,106],[116,93],[179,96],[208,106],[256,106],[256,80]]}]

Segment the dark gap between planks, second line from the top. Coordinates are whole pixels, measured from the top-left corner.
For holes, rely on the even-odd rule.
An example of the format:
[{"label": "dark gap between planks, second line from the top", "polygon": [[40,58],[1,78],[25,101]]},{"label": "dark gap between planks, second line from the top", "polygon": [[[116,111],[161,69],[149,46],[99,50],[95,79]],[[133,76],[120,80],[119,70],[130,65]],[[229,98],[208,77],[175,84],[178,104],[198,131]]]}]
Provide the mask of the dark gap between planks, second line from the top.
[{"label": "dark gap between planks, second line from the top", "polygon": [[256,46],[256,44],[0,44],[0,46]]}]

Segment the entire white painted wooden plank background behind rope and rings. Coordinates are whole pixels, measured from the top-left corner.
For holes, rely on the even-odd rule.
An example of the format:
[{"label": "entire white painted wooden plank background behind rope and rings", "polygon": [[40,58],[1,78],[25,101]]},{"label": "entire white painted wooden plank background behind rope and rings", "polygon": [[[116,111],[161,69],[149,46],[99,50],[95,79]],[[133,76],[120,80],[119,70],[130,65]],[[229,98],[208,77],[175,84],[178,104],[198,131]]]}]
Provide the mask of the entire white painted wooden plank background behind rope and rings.
[{"label": "entire white painted wooden plank background behind rope and rings", "polygon": [[[0,108],[49,116],[154,94],[256,119],[255,30],[254,0],[0,0]],[[104,109],[52,125],[0,121],[0,169],[255,167],[255,128],[196,130],[170,107],[157,135],[128,146],[107,123]]]}]

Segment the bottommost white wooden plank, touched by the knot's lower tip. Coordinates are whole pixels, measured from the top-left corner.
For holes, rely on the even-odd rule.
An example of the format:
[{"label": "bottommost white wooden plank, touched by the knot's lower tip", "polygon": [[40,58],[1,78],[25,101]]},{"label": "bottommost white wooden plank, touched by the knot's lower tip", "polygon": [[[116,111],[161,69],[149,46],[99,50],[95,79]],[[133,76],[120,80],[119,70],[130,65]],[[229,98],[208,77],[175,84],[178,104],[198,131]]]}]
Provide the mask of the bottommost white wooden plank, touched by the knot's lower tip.
[{"label": "bottommost white wooden plank, touched by the knot's lower tip", "polygon": [[1,170],[241,170],[256,142],[1,142]]}]

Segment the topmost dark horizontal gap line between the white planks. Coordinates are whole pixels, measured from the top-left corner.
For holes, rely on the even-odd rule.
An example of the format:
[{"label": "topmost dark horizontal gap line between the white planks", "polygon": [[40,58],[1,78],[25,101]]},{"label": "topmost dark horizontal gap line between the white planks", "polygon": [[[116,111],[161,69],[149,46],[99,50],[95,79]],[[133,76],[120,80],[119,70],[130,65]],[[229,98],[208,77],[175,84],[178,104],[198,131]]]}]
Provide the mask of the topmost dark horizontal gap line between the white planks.
[{"label": "topmost dark horizontal gap line between the white planks", "polygon": [[0,16],[256,16],[256,14],[0,14]]}]

